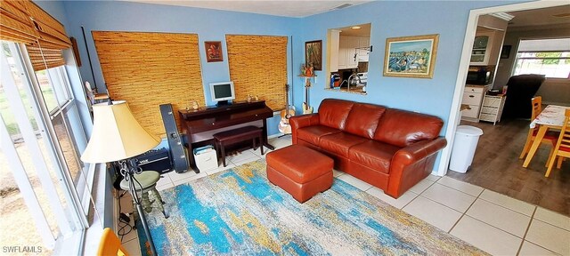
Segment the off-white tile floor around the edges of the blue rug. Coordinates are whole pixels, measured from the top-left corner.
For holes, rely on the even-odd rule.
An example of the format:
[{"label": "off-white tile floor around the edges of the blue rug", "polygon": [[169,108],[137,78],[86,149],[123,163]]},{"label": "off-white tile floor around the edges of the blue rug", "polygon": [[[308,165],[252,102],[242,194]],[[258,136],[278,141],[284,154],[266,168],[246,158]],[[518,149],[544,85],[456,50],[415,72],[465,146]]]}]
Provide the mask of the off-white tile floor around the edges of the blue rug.
[{"label": "off-white tile floor around the edges of the blue rug", "polygon": [[[291,144],[290,137],[275,138],[270,142],[275,148]],[[225,168],[220,166],[199,174],[169,172],[159,180],[157,188],[172,188],[264,157],[259,149],[247,150],[227,157]],[[556,212],[446,176],[429,175],[403,196],[394,199],[349,174],[333,172],[338,180],[344,180],[493,255],[570,255],[570,218]],[[128,196],[121,199],[122,212],[132,211],[129,200]],[[136,231],[123,237],[123,245],[128,252],[140,252]]]}]

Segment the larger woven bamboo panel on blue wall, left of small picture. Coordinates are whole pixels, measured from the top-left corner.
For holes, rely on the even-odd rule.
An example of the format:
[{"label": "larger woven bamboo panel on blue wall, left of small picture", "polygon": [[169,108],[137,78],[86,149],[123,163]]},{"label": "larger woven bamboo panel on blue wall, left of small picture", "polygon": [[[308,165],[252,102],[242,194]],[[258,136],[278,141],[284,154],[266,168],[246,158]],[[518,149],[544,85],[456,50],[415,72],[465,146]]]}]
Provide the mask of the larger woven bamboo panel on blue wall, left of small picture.
[{"label": "larger woven bamboo panel on blue wall, left of small picture", "polygon": [[126,100],[142,127],[166,134],[160,104],[177,110],[196,100],[204,106],[198,35],[93,31],[109,95]]}]

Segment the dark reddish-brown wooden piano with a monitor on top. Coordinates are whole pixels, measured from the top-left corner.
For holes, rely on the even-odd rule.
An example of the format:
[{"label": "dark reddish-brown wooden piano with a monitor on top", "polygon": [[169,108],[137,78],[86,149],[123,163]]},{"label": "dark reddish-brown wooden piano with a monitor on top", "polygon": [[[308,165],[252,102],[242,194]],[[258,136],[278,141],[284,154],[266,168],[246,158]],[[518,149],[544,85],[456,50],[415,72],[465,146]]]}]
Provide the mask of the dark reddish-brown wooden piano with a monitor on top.
[{"label": "dark reddish-brown wooden piano with a monitor on top", "polygon": [[[196,168],[194,161],[194,154],[192,152],[192,142],[199,142],[203,140],[212,139],[211,135],[206,135],[208,138],[192,139],[193,135],[208,132],[222,132],[224,127],[234,125],[247,124],[249,122],[262,120],[263,142],[267,148],[274,149],[272,145],[267,142],[267,121],[266,118],[273,117],[273,110],[265,105],[265,100],[254,101],[238,101],[233,102],[232,105],[222,107],[207,107],[199,108],[197,110],[179,110],[180,120],[182,122],[183,131],[186,133],[188,139],[188,155],[192,168]],[[194,169],[196,170],[196,169]]]}]

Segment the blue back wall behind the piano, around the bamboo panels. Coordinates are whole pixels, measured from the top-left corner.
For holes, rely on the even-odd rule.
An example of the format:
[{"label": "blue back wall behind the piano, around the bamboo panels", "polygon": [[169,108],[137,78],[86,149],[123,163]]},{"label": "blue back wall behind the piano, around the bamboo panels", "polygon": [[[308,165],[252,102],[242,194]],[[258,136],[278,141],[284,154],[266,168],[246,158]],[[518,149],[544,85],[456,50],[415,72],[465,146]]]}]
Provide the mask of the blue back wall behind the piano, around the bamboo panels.
[{"label": "blue back wall behind the piano, around the bamboo panels", "polygon": [[[243,12],[224,12],[199,8],[188,8],[158,4],[137,4],[121,1],[66,1],[64,2],[67,18],[66,27],[69,36],[75,36],[79,44],[81,74],[88,81],[95,79],[100,92],[104,92],[102,70],[95,50],[92,30],[110,31],[144,31],[144,32],[176,32],[195,33],[199,36],[200,65],[202,68],[202,84],[208,105],[210,100],[209,83],[229,81],[226,34],[290,36],[297,30],[299,19],[289,19],[269,15]],[[93,78],[87,60],[87,52],[81,32],[85,28],[87,46],[93,61]],[[222,41],[224,61],[206,62],[203,49],[204,41]],[[289,58],[288,54],[288,58]],[[289,60],[288,60],[289,63]],[[290,65],[288,65],[290,69]],[[288,71],[290,72],[290,70]],[[290,73],[289,73],[290,74]],[[93,84],[93,83],[92,83]],[[269,134],[277,133],[279,118],[268,120]]]}]

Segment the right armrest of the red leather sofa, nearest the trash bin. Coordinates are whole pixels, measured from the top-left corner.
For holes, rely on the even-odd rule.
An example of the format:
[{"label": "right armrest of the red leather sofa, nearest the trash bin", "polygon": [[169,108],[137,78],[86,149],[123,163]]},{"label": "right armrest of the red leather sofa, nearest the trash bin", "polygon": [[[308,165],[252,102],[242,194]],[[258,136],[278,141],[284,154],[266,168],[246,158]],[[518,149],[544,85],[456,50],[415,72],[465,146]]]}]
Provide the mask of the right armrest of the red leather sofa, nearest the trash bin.
[{"label": "right armrest of the red leather sofa, nearest the trash bin", "polygon": [[447,140],[422,140],[398,150],[390,163],[389,196],[397,198],[420,180],[428,177],[436,161],[436,153],[447,146]]}]

